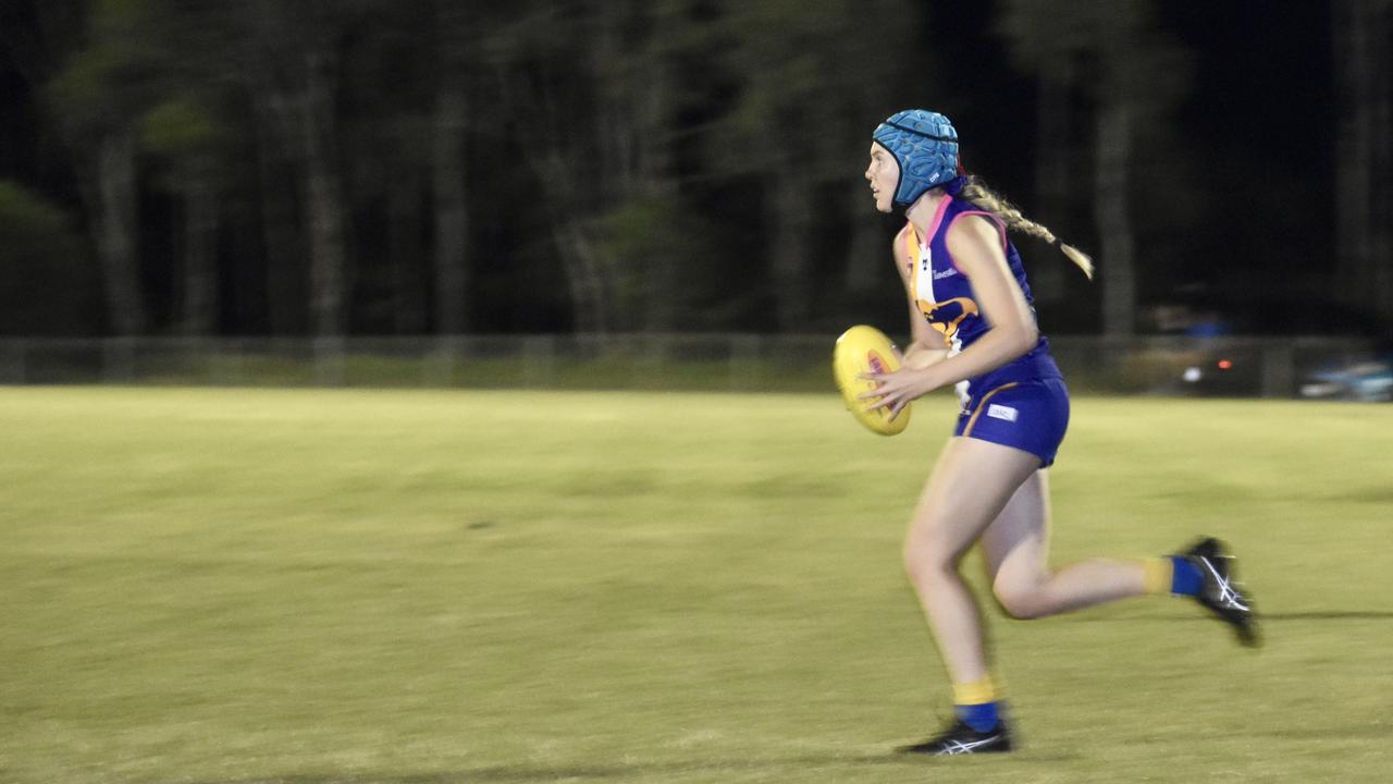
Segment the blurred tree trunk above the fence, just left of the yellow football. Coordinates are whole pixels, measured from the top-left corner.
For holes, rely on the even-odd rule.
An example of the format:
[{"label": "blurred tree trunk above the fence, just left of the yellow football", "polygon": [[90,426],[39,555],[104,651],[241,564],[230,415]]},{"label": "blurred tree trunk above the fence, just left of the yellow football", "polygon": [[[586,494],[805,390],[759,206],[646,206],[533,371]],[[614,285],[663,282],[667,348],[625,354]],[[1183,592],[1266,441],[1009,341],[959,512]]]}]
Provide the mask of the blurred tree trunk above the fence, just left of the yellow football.
[{"label": "blurred tree trunk above the fence, just left of the yellow football", "polygon": [[808,257],[808,232],[812,226],[808,211],[808,187],[802,177],[786,172],[773,184],[770,218],[775,225],[772,283],[775,310],[781,332],[808,328],[808,297],[812,294]]}]

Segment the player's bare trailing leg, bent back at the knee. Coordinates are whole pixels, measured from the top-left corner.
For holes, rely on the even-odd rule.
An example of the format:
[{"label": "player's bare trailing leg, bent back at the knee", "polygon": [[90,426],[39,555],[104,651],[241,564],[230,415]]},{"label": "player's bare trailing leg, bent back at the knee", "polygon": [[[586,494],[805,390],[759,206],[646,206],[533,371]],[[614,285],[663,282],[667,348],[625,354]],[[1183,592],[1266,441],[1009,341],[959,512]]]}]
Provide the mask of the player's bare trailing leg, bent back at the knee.
[{"label": "player's bare trailing leg, bent back at the knee", "polygon": [[1042,618],[1142,596],[1138,561],[1091,559],[1049,571],[1049,474],[1021,483],[982,534],[982,554],[997,601],[1014,618]]}]

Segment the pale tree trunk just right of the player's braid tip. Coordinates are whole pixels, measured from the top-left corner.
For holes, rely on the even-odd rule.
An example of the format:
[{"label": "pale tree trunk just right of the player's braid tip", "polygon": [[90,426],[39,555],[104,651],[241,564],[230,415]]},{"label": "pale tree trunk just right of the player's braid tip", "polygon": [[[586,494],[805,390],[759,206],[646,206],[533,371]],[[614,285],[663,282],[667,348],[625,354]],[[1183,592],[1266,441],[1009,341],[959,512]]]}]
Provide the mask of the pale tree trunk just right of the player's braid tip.
[{"label": "pale tree trunk just right of the player's braid tip", "polygon": [[1094,215],[1102,239],[1099,269],[1103,283],[1103,335],[1133,335],[1135,271],[1133,227],[1127,198],[1131,166],[1131,110],[1123,96],[1112,96],[1098,114],[1098,162]]}]

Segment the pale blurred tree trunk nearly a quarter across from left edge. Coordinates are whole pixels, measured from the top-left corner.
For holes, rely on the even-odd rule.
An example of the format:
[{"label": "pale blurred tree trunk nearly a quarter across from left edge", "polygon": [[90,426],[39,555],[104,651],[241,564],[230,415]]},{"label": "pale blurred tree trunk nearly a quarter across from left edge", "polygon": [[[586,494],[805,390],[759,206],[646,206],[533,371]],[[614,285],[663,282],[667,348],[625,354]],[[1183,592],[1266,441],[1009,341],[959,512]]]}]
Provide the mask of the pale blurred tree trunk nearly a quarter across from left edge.
[{"label": "pale blurred tree trunk nearly a quarter across from left edge", "polygon": [[316,336],[343,335],[348,326],[344,272],[344,208],[336,153],[334,63],[326,52],[305,56],[305,145],[309,211],[311,317]]}]

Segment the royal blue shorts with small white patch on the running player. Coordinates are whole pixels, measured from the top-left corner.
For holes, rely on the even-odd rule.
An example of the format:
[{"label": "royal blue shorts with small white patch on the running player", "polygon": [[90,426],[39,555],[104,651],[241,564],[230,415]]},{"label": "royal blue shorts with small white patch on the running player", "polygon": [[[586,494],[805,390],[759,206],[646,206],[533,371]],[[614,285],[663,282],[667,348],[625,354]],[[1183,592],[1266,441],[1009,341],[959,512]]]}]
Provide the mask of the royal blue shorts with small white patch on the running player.
[{"label": "royal blue shorts with small white patch on the running player", "polygon": [[1039,458],[1043,469],[1055,462],[1066,430],[1068,388],[1060,378],[1045,378],[972,395],[953,434],[1024,449]]}]

